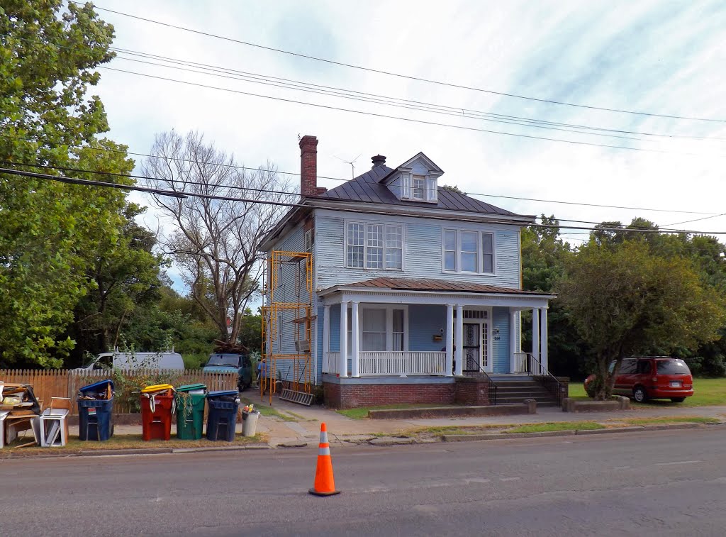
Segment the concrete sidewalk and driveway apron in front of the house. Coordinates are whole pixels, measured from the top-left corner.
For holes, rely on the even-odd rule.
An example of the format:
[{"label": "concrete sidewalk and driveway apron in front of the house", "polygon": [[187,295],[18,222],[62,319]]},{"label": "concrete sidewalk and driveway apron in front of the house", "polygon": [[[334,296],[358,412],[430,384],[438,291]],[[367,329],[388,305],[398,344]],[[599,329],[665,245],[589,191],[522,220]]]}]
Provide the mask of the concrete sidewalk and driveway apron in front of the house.
[{"label": "concrete sidewalk and driveway apron in front of the house", "polygon": [[[269,408],[269,398],[260,400],[258,394],[245,393],[243,397],[258,408]],[[653,403],[652,408],[631,408],[627,411],[612,412],[563,412],[560,408],[537,408],[537,414],[518,416],[484,416],[468,418],[439,419],[350,419],[322,406],[303,406],[278,400],[273,397],[272,408],[286,419],[277,416],[260,416],[257,432],[269,437],[272,447],[297,447],[317,443],[320,424],[325,422],[331,443],[343,445],[370,439],[373,435],[395,436],[400,432],[420,427],[476,426],[532,424],[548,421],[602,421],[624,418],[662,418],[669,416],[699,416],[726,421],[726,406],[681,407],[672,403]],[[264,410],[263,410],[264,411]],[[241,432],[242,425],[237,424]],[[140,425],[117,425],[117,435],[140,435]],[[172,432],[174,434],[174,432]]]}]

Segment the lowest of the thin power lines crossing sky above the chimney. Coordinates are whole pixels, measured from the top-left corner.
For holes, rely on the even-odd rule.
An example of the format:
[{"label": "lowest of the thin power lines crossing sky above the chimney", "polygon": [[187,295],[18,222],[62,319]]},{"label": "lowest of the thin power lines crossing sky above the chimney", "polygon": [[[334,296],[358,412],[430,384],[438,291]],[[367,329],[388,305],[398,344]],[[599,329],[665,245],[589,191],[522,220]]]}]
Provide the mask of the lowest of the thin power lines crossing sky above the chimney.
[{"label": "lowest of the thin power lines crossing sky above the chimney", "polygon": [[[376,118],[397,119],[399,121],[409,121],[410,123],[417,123],[417,124],[423,124],[423,125],[444,126],[444,127],[450,128],[450,129],[461,129],[461,130],[473,131],[473,132],[486,132],[489,134],[503,134],[505,136],[528,138],[530,140],[547,140],[550,142],[562,142],[562,143],[572,144],[572,145],[590,145],[590,146],[597,147],[597,148],[625,149],[625,150],[629,150],[629,151],[645,151],[648,153],[663,153],[663,154],[673,154],[673,155],[683,155],[683,156],[701,156],[701,157],[705,156],[705,155],[702,155],[699,153],[682,153],[682,152],[677,152],[677,151],[666,151],[666,150],[648,149],[648,148],[629,148],[626,145],[608,145],[608,144],[598,144],[595,142],[579,142],[577,140],[564,140],[562,138],[548,138],[548,137],[542,137],[542,136],[534,136],[532,134],[520,134],[520,133],[515,133],[515,132],[494,131],[491,129],[478,129],[476,127],[470,127],[470,126],[452,125],[452,124],[446,124],[446,123],[439,123],[436,121],[426,121],[423,119],[404,118],[401,116],[389,116],[388,114],[365,112],[363,110],[354,110],[352,108],[340,108],[340,107],[331,106],[331,105],[321,105],[321,104],[317,104],[314,102],[304,102],[304,101],[298,101],[298,100],[294,100],[294,99],[285,99],[283,97],[272,97],[272,95],[263,95],[263,94],[252,93],[252,92],[242,92],[239,89],[222,88],[220,86],[211,86],[209,84],[199,84],[197,82],[177,80],[176,78],[167,78],[166,76],[156,76],[156,75],[150,75],[150,74],[146,74],[146,73],[136,73],[135,71],[130,71],[130,70],[126,70],[126,69],[118,69],[118,68],[104,67],[104,66],[99,66],[99,68],[118,71],[120,73],[129,73],[131,75],[136,75],[136,76],[144,76],[146,78],[155,78],[157,80],[175,82],[177,84],[187,84],[188,86],[197,86],[197,87],[202,87],[202,88],[207,88],[207,89],[218,89],[222,92],[237,93],[237,94],[242,94],[242,95],[248,95],[250,97],[261,97],[263,99],[275,100],[275,101],[280,101],[280,102],[291,102],[296,105],[312,106],[314,108],[325,108],[326,110],[338,110],[341,112],[356,113],[356,114],[360,114],[362,116],[371,116],[371,117],[376,117]],[[716,156],[725,157],[726,155],[716,155]]]}]

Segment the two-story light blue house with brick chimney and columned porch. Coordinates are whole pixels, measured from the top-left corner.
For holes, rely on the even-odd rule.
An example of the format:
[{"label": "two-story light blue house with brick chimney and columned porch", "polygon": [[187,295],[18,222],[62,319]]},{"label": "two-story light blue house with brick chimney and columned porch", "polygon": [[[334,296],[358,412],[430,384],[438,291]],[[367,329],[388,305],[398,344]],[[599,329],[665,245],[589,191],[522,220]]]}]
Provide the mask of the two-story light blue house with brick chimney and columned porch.
[{"label": "two-story light blue house with brick chimney and columned porch", "polygon": [[[494,386],[501,394],[513,379],[551,377],[553,296],[521,286],[520,230],[534,216],[444,189],[444,171],[423,153],[393,168],[375,156],[370,171],[319,188],[317,142],[300,140],[300,205],[261,249],[311,254],[312,296],[298,269],[284,265],[275,292],[277,300],[311,303],[302,333],[326,403],[488,404]],[[521,352],[523,310],[532,313],[534,352]],[[293,356],[301,319],[275,315],[267,344],[278,358]],[[279,364],[282,379],[295,380]]]}]

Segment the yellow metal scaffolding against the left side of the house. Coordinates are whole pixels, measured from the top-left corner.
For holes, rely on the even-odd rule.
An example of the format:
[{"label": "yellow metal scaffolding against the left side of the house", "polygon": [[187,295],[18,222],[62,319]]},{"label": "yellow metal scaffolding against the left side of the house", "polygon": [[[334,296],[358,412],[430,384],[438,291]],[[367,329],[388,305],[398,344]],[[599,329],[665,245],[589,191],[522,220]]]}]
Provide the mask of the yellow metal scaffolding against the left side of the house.
[{"label": "yellow metal scaffolding against the left side of the house", "polygon": [[[272,395],[277,392],[277,361],[292,360],[288,367],[286,380],[288,387],[296,392],[312,393],[313,366],[310,352],[313,276],[312,254],[307,251],[273,250],[266,259],[266,271],[263,275],[262,295],[262,349],[261,355],[266,358],[267,376],[259,380],[260,400],[269,391],[269,403]],[[286,302],[288,290],[282,281],[283,267],[291,266],[295,272],[295,293],[292,302]],[[277,291],[277,293],[276,293]],[[282,299],[280,294],[282,292]],[[282,352],[285,336],[285,314],[293,315],[290,323],[294,326],[295,352]],[[277,341],[275,341],[277,339]],[[290,369],[292,371],[290,371]]]}]

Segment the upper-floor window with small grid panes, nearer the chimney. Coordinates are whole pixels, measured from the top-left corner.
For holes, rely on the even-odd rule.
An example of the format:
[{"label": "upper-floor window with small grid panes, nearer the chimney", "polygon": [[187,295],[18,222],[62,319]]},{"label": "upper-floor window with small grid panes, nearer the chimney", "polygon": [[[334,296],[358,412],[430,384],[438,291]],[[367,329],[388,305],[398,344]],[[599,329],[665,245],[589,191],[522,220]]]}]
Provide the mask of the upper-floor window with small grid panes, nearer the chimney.
[{"label": "upper-floor window with small grid panes, nearer the chimney", "polygon": [[403,269],[403,226],[348,222],[346,265],[375,270]]}]

